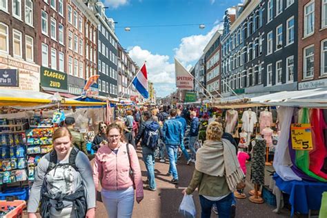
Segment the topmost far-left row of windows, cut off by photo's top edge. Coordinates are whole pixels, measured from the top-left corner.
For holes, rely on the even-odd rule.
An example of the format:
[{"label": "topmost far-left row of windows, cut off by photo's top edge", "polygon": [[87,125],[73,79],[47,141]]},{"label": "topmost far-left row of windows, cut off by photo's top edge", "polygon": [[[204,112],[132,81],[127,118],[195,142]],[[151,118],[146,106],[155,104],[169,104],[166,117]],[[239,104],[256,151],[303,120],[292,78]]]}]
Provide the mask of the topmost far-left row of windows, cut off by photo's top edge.
[{"label": "topmost far-left row of windows, cut off by photo's top edge", "polygon": [[[10,0],[12,1],[12,17],[23,20],[22,1],[25,1],[25,23],[33,26],[33,1],[32,0]],[[59,0],[63,1],[63,0]],[[0,0],[0,10],[8,12],[8,0]]]}]

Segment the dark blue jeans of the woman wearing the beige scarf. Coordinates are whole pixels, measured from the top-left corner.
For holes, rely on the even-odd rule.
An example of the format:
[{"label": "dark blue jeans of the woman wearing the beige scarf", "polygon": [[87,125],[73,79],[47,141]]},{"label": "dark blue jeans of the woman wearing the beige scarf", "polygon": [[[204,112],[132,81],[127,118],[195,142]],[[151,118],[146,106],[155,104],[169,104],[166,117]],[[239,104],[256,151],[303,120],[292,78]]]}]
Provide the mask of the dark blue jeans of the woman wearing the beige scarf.
[{"label": "dark blue jeans of the woman wearing the beige scarf", "polygon": [[213,204],[217,205],[217,210],[219,214],[219,218],[229,218],[230,210],[232,206],[232,193],[227,197],[224,197],[220,201],[210,201],[199,195],[200,204],[201,204],[201,218],[210,218],[211,208]]}]

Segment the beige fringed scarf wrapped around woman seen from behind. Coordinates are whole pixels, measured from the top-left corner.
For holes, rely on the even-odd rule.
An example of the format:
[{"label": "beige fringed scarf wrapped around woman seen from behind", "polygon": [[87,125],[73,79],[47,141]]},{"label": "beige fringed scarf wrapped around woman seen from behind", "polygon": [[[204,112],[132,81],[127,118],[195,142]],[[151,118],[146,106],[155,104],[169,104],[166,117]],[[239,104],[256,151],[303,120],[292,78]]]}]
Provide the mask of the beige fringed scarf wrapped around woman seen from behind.
[{"label": "beige fringed scarf wrapped around woman seen from behind", "polygon": [[237,184],[245,177],[235,148],[227,139],[204,141],[204,145],[197,150],[195,168],[210,176],[226,177],[231,191],[236,190]]}]

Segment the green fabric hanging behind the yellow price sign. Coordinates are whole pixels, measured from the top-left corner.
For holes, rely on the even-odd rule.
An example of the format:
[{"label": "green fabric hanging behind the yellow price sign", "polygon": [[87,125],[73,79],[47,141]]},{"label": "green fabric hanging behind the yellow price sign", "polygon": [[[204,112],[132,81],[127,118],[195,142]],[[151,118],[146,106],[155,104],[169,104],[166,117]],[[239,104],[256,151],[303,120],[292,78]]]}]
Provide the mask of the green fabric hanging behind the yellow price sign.
[{"label": "green fabric hanging behind the yellow price sign", "polygon": [[[302,108],[299,110],[299,123],[310,123],[308,108]],[[319,177],[314,172],[309,170],[310,157],[308,150],[295,150],[295,165],[302,170],[309,177],[318,179],[319,181],[327,181],[322,177]]]}]

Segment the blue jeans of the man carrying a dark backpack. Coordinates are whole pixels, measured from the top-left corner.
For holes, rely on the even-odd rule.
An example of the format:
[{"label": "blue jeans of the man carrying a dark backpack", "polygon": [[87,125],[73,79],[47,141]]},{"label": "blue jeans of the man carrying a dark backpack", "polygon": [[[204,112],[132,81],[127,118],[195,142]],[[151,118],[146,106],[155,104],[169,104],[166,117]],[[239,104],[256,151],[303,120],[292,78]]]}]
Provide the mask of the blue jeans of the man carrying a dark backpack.
[{"label": "blue jeans of the man carrying a dark backpack", "polygon": [[146,164],[146,171],[148,172],[149,187],[155,189],[155,154],[150,148],[142,147],[142,155],[144,164]]}]

